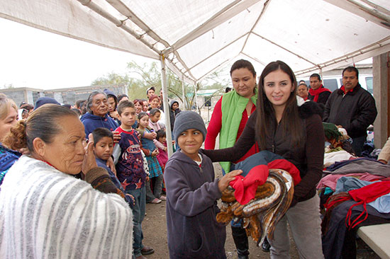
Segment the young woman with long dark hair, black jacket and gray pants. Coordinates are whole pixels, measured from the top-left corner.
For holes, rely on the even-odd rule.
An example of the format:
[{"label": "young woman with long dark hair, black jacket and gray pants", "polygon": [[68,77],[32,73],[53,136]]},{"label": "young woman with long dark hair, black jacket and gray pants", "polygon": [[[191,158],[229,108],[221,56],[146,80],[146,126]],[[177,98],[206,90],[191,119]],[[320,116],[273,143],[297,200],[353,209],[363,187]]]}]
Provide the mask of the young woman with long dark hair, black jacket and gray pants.
[{"label": "young woman with long dark hair, black jacket and gray pants", "polygon": [[296,100],[296,79],[282,61],[271,62],[259,80],[257,109],[244,132],[229,149],[206,150],[214,161],[236,161],[257,142],[260,150],[272,151],[294,163],[301,182],[294,186],[291,207],[279,221],[271,243],[271,258],[289,258],[289,232],[300,258],[323,258],[321,219],[316,184],[323,168],[324,132],[320,109],[313,102],[300,107]]}]

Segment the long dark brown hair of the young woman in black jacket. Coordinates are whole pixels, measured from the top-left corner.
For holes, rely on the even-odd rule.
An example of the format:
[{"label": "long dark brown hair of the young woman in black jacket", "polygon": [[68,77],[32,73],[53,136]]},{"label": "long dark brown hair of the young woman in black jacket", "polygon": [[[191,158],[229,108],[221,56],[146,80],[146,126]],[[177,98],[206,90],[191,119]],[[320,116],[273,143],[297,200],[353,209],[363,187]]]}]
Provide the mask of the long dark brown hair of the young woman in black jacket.
[{"label": "long dark brown hair of the young woman in black jacket", "polygon": [[274,128],[277,127],[277,118],[274,107],[264,92],[264,77],[269,73],[277,70],[282,70],[284,73],[289,75],[291,84],[294,86],[294,91],[291,92],[289,99],[287,100],[286,107],[284,108],[282,115],[282,120],[280,121],[280,127],[282,127],[283,136],[286,136],[287,132],[289,132],[291,134],[291,144],[293,146],[299,145],[301,143],[301,139],[303,139],[301,119],[299,117],[298,104],[296,103],[296,78],[289,65],[280,60],[277,60],[276,62],[267,64],[259,79],[259,97],[257,98],[256,108],[256,132],[258,136],[257,142],[261,150],[266,149],[267,136],[269,136],[269,134],[273,134],[273,132],[269,132],[268,125],[274,125]]}]

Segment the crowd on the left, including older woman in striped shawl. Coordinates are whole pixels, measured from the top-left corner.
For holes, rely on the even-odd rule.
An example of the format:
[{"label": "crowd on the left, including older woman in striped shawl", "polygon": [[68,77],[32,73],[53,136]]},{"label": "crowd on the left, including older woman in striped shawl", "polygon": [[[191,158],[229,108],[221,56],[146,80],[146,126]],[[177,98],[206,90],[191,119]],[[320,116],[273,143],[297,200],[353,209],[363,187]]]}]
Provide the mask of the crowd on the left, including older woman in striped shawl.
[{"label": "crowd on the left, including older woman in striped shawl", "polygon": [[[13,100],[0,95],[0,183],[11,179],[1,185],[0,224],[10,230],[20,227],[9,216],[18,213],[23,217],[23,208],[27,208],[29,220],[21,224],[35,226],[33,232],[30,228],[21,233],[2,231],[1,258],[96,258],[100,253],[106,253],[106,258],[145,258],[143,255],[154,253],[143,245],[141,224],[146,202],[166,200],[162,173],[168,156],[161,99],[154,95],[154,88],[148,89],[147,96],[149,102],[130,102],[128,96],[116,96],[106,89],[90,93],[87,100],[77,100],[74,107],[43,97],[35,105],[21,103],[18,108]],[[173,120],[180,112],[178,104],[172,100],[169,115]],[[30,106],[33,109],[27,110]],[[18,168],[18,173],[13,173],[13,168]],[[37,180],[43,176],[45,180]],[[65,188],[67,184],[72,188]],[[25,190],[10,191],[16,185]],[[48,197],[35,199],[38,191]],[[57,197],[55,192],[62,195]],[[16,202],[25,199],[29,202],[23,205]],[[55,200],[66,214],[50,210]],[[86,207],[81,208],[83,204]],[[49,212],[54,223],[46,217]],[[48,224],[61,229],[44,241]],[[65,234],[65,245],[57,248],[58,238]],[[28,241],[6,242],[13,240],[9,235],[26,235]],[[99,245],[110,249],[92,249]],[[78,246],[86,251],[75,255]],[[120,251],[121,246],[126,249]]]}]

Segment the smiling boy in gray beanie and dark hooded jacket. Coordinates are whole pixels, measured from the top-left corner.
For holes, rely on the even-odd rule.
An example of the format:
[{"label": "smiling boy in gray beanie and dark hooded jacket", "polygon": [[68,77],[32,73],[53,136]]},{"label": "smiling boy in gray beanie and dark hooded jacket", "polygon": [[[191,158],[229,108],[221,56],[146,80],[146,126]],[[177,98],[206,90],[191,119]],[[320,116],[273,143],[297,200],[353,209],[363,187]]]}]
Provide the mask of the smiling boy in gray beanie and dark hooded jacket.
[{"label": "smiling boy in gray beanie and dark hooded jacket", "polygon": [[206,127],[201,116],[182,111],[174,122],[179,144],[165,166],[169,258],[224,259],[226,231],[216,222],[221,192],[240,170],[214,179],[211,160],[201,153]]}]

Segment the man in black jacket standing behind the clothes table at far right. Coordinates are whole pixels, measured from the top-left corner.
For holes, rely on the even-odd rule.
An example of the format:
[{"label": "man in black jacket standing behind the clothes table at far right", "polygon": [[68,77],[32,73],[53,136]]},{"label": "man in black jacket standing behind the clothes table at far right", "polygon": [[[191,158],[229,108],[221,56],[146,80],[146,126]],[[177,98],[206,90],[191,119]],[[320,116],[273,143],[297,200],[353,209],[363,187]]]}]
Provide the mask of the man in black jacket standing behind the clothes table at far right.
[{"label": "man in black jacket standing behind the clothes table at far right", "polygon": [[360,156],[367,139],[367,127],[377,117],[375,100],[359,84],[359,71],[347,67],[342,71],[342,86],[333,91],[325,105],[324,122],[347,129],[352,138],[352,148]]}]

